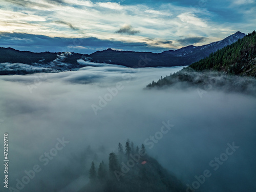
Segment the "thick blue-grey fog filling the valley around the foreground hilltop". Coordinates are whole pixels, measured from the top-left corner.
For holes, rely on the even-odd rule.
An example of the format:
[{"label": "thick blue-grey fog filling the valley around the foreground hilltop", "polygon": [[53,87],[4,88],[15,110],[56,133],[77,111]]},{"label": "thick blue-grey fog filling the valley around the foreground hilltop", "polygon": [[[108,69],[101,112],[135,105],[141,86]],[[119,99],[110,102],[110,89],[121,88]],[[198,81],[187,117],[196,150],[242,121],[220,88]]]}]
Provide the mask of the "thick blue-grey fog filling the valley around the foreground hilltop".
[{"label": "thick blue-grey fog filling the valley around the foreground hilltop", "polygon": [[[191,186],[195,176],[209,170],[211,176],[197,191],[253,191],[256,98],[221,89],[203,94],[193,87],[143,89],[182,68],[101,64],[0,76],[1,135],[9,134],[9,189],[39,165],[41,170],[20,191],[79,191],[89,181],[91,161],[96,167],[101,160],[107,163],[118,142],[129,138],[136,145],[144,143],[147,153],[184,185]],[[149,144],[147,139],[163,122],[174,126]],[[209,165],[233,144],[239,147],[218,168]],[[46,164],[44,153],[51,150],[57,154]]]}]

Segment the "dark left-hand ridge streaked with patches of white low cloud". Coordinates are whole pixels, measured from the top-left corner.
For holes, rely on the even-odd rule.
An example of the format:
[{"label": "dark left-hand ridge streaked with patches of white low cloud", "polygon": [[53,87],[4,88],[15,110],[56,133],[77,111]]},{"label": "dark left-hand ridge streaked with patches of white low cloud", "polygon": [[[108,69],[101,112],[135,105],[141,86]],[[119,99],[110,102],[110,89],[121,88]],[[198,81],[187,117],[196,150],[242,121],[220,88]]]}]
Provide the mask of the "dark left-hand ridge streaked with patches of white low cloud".
[{"label": "dark left-hand ridge streaked with patches of white low cloud", "polygon": [[77,62],[79,53],[33,53],[12,48],[0,48],[0,75],[61,72],[84,67]]}]

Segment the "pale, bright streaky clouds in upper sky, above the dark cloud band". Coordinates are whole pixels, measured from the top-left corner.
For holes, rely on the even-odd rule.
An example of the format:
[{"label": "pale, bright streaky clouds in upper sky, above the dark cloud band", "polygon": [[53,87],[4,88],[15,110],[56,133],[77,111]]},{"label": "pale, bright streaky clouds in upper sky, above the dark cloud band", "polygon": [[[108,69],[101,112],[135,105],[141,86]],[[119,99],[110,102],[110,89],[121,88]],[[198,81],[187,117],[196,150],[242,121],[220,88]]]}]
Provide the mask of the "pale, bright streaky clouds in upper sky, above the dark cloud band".
[{"label": "pale, bright streaky clouds in upper sky, above the dark cloud band", "polygon": [[[174,41],[179,36],[189,34],[190,36],[208,37],[205,44],[209,44],[239,30],[244,33],[254,30],[255,18],[251,15],[255,10],[251,6],[252,4],[230,6],[229,1],[220,0],[209,1],[204,8],[198,8],[198,4],[198,2],[191,3],[189,1],[169,3],[165,0],[161,3],[151,1],[145,2],[145,4],[138,4],[134,1],[114,3],[113,1],[81,0],[42,0],[37,2],[34,0],[6,0],[1,5],[1,13],[4,10],[18,12],[19,8],[22,8],[20,12],[29,17],[26,15],[20,17],[16,13],[0,14],[0,25],[2,26],[0,31],[68,38],[89,36],[117,42],[134,42],[141,45],[145,43],[146,46],[142,51],[152,51],[153,47],[155,50],[160,50],[160,48],[166,50],[179,49],[181,45],[169,46],[169,44],[159,44],[154,41],[144,41],[144,39]],[[51,14],[49,14],[49,10],[51,10]],[[5,21],[6,19],[8,21]],[[69,27],[64,26],[65,24],[63,26],[56,25],[53,21],[64,21],[72,25]],[[129,24],[135,29],[132,28],[130,31],[129,27],[128,30],[120,29],[123,24]],[[79,30],[74,31],[72,26]],[[114,33],[116,31],[121,33]],[[104,49],[103,46],[99,46],[98,49]],[[123,47],[114,48],[125,50]],[[147,48],[150,49],[147,50]]]}]

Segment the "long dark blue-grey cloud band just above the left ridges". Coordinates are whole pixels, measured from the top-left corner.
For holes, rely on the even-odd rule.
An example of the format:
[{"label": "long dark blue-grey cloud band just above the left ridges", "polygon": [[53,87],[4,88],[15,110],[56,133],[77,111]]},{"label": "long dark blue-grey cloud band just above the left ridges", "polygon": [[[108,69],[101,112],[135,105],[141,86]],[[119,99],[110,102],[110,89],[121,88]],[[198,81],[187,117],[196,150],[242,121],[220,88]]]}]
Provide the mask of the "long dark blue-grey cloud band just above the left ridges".
[{"label": "long dark blue-grey cloud band just above the left ridges", "polygon": [[[12,47],[21,51],[32,52],[78,52],[91,54],[108,48],[141,51],[162,52],[163,48],[150,47],[144,42],[124,42],[117,40],[103,40],[95,37],[65,38],[49,37],[46,35],[32,35],[27,33],[0,33],[0,47]],[[158,42],[158,44],[169,41]]]}]

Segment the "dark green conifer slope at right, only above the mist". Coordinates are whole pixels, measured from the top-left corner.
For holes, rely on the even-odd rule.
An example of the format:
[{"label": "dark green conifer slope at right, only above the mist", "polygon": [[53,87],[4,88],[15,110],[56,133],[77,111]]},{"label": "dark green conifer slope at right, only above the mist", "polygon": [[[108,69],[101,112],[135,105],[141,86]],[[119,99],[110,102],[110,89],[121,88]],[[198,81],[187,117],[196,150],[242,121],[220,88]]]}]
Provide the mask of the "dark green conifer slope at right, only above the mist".
[{"label": "dark green conifer slope at right, only above the mist", "polygon": [[256,76],[256,34],[249,33],[227,47],[211,53],[209,57],[191,64],[196,71],[216,70],[228,74]]}]

